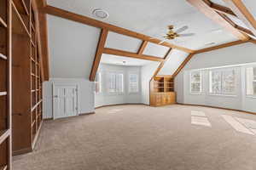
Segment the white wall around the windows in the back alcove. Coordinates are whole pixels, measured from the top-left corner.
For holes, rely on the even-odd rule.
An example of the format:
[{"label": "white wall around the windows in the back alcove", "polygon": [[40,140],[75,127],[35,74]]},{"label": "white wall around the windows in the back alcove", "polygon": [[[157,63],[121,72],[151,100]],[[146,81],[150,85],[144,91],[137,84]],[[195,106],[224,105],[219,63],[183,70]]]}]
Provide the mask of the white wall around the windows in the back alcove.
[{"label": "white wall around the windows in the back alcove", "polygon": [[[141,104],[141,67],[140,66],[122,66],[122,65],[99,65],[99,72],[102,75],[102,93],[95,95],[95,106],[115,105],[115,104]],[[120,72],[124,74],[124,94],[108,94],[108,72]],[[135,73],[139,76],[139,92],[129,94],[128,77],[129,73]]]}]

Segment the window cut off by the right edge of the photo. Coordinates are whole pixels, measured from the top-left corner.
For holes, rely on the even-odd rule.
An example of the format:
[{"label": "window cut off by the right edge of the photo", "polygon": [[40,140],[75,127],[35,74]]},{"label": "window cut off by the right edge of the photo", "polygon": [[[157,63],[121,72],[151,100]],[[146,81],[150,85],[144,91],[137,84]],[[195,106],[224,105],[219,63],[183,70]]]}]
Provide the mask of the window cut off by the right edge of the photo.
[{"label": "window cut off by the right edge of the photo", "polygon": [[247,95],[256,95],[256,67],[247,68]]}]

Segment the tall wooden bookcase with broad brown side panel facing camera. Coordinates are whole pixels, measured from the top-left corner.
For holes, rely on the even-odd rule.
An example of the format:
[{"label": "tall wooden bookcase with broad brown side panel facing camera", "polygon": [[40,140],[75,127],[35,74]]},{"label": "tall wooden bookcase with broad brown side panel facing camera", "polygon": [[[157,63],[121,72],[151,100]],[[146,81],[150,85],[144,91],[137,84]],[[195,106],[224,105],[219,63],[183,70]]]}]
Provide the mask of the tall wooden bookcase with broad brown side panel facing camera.
[{"label": "tall wooden bookcase with broad brown side panel facing camera", "polygon": [[13,155],[32,151],[42,123],[41,59],[31,0],[12,2]]}]

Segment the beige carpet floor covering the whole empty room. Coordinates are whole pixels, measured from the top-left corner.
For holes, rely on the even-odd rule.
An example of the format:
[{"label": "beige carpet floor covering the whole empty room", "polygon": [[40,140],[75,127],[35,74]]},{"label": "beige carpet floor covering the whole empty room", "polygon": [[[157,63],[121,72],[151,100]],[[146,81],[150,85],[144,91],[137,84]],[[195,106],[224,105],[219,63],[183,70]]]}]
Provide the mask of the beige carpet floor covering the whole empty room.
[{"label": "beige carpet floor covering the whole empty room", "polygon": [[[191,124],[203,111],[211,127]],[[32,153],[14,170],[255,170],[256,135],[237,132],[207,107],[109,106],[96,114],[45,121]]]}]

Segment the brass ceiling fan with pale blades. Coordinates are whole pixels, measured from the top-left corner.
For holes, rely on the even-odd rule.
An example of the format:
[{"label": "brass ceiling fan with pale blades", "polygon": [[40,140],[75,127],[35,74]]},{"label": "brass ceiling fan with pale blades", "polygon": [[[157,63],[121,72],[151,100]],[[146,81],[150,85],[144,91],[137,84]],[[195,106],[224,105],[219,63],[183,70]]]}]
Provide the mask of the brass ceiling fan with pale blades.
[{"label": "brass ceiling fan with pale blades", "polygon": [[[176,39],[177,37],[190,37],[195,35],[195,33],[180,34],[181,32],[186,31],[187,29],[189,29],[189,26],[183,26],[177,29],[177,31],[174,31],[174,26],[172,25],[168,26],[168,31],[163,36],[165,39],[159,42],[158,44],[162,44],[163,42],[166,42],[166,40]],[[152,37],[151,39],[156,39],[156,38]]]}]

